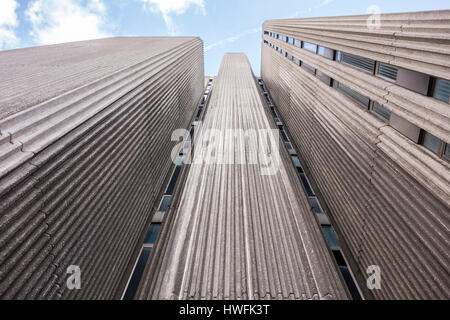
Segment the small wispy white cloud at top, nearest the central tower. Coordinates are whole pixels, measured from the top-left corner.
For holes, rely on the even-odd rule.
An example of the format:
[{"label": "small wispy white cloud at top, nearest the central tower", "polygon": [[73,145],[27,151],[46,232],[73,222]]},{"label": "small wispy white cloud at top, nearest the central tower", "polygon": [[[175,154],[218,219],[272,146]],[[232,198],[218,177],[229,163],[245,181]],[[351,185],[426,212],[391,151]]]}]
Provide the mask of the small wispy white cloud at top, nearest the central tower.
[{"label": "small wispy white cloud at top, nearest the central tower", "polygon": [[166,23],[171,36],[177,34],[177,28],[172,19],[172,14],[181,15],[191,6],[197,7],[203,15],[206,15],[203,0],[141,0],[151,12],[160,13]]}]

